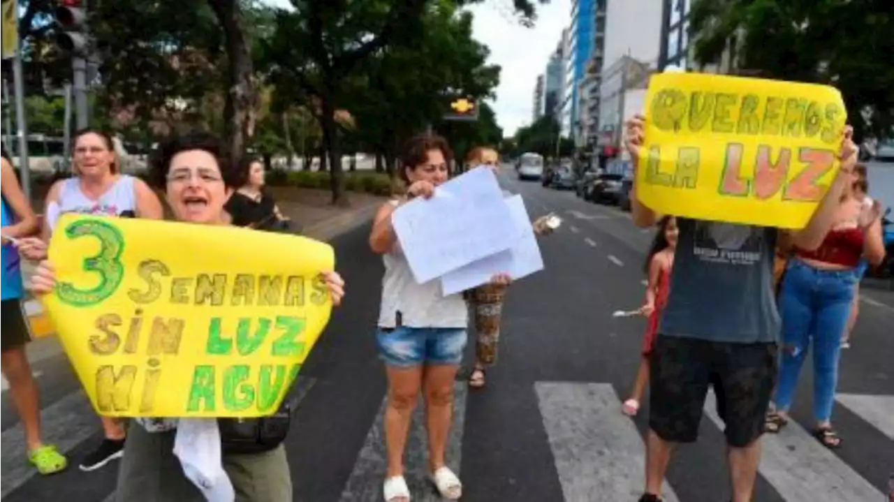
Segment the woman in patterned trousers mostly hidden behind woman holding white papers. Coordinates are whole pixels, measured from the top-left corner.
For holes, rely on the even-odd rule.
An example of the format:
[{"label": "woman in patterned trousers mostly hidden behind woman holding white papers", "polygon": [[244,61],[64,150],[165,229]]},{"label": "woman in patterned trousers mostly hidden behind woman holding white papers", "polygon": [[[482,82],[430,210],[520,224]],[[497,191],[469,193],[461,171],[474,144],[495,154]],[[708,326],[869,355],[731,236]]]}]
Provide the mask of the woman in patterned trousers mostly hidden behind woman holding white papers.
[{"label": "woman in patterned trousers mostly hidden behind woman holding white papers", "polygon": [[[466,156],[466,169],[473,169],[480,165],[498,171],[500,169],[500,155],[491,147],[477,146]],[[510,192],[503,190],[504,197],[510,197]],[[550,220],[552,215],[547,214],[532,223],[537,235],[544,235],[552,231]],[[469,305],[475,316],[475,366],[468,377],[468,386],[473,389],[481,389],[485,386],[486,368],[496,364],[497,344],[500,339],[500,323],[502,320],[503,299],[506,297],[508,284],[485,284],[467,292]]]}]

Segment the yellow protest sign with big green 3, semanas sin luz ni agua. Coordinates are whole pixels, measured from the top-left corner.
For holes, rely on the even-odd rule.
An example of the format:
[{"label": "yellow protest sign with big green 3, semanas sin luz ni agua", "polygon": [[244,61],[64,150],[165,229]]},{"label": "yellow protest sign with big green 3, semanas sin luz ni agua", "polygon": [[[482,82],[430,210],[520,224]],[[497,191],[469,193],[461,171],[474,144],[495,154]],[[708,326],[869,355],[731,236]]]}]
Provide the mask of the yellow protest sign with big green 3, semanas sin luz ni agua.
[{"label": "yellow protest sign with big green 3, semanas sin luz ni agua", "polygon": [[105,416],[271,414],[332,312],[308,238],[65,214],[49,255],[46,311]]}]

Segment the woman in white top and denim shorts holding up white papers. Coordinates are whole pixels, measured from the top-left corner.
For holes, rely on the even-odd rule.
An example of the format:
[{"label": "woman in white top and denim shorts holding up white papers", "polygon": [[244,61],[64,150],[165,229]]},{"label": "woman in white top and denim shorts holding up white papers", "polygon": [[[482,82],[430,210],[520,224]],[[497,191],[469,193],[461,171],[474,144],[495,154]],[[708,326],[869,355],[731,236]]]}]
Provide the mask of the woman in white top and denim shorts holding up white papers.
[{"label": "woman in white top and denim shorts holding up white papers", "polygon": [[[447,467],[444,450],[451,427],[453,381],[467,342],[468,307],[461,294],[443,296],[439,280],[417,284],[392,226],[398,206],[413,197],[432,197],[434,188],[448,180],[451,161],[452,152],[443,138],[411,138],[401,155],[407,197],[379,208],[369,236],[369,246],[382,255],[385,265],[376,332],[388,374],[385,502],[410,499],[403,477],[403,450],[420,390],[426,400],[430,479],[443,498],[456,500],[462,495],[462,483]],[[508,283],[505,275],[493,278],[494,285]]]}]

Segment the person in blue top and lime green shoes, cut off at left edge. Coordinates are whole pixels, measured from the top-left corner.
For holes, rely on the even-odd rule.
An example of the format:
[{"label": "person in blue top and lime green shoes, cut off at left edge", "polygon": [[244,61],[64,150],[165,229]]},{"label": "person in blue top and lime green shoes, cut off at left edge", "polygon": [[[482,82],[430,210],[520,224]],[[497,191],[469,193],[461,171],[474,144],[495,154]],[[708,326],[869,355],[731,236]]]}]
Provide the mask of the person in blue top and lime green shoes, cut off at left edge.
[{"label": "person in blue top and lime green shoes, cut off at left edge", "polygon": [[25,430],[29,462],[38,473],[52,474],[63,471],[68,461],[41,437],[38,387],[25,353],[30,333],[21,308],[21,258],[13,247],[20,238],[36,230],[37,216],[21,191],[13,165],[0,150],[0,374],[9,381],[13,406]]}]

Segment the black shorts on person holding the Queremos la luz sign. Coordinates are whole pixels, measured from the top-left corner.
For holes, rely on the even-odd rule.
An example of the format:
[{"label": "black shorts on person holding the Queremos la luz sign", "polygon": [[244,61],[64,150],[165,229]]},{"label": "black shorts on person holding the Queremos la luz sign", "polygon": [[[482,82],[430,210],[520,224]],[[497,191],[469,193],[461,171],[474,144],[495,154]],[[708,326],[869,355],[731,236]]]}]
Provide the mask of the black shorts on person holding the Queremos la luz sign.
[{"label": "black shorts on person holding the Queremos la luz sign", "polygon": [[659,335],[650,364],[649,427],[665,441],[698,438],[704,398],[713,387],[724,435],[744,448],[763,433],[776,382],[775,343],[725,343]]}]

